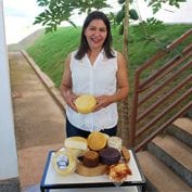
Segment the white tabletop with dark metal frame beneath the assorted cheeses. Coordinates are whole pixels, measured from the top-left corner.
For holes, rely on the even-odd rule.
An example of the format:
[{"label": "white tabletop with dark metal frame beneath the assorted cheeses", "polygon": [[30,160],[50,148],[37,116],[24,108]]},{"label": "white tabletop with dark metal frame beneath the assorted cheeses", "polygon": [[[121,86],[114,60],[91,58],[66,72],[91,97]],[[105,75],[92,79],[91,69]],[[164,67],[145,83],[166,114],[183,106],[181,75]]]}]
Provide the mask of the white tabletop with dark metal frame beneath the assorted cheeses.
[{"label": "white tabletop with dark metal frame beneath the assorted cheeses", "polygon": [[[140,169],[136,154],[133,150],[129,150],[129,152],[130,161],[128,166],[131,169],[132,175],[129,175],[127,180],[125,180],[120,187],[144,185],[145,178]],[[54,151],[50,151],[40,183],[41,191],[44,191],[46,189],[101,188],[115,185],[115,183],[110,180],[107,175],[85,177],[74,172],[68,176],[61,176],[53,169],[51,163]]]}]

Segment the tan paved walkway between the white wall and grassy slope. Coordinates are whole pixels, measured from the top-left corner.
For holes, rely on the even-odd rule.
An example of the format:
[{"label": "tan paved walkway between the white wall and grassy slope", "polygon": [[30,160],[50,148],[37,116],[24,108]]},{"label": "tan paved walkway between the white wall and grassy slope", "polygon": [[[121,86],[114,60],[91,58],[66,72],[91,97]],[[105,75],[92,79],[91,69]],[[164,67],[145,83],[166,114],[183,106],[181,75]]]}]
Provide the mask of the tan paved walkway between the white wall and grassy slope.
[{"label": "tan paved walkway between the white wall and grassy slope", "polygon": [[63,110],[22,52],[10,52],[9,63],[20,180],[25,188],[39,184],[48,152],[63,146],[65,121]]}]

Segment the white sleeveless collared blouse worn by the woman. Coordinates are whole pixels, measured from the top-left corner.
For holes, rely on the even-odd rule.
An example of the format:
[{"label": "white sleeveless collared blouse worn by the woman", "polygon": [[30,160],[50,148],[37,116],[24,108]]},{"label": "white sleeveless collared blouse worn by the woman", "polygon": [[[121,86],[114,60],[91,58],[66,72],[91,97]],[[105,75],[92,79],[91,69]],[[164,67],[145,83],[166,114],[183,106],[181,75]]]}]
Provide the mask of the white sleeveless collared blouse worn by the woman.
[{"label": "white sleeveless collared blouse worn by the woman", "polygon": [[[76,51],[71,57],[74,93],[99,97],[116,92],[117,52],[115,57],[107,59],[101,51],[93,65],[87,54],[81,60],[76,60],[75,54]],[[80,114],[67,106],[66,115],[72,125],[87,131],[112,128],[118,120],[116,103],[90,114]]]}]

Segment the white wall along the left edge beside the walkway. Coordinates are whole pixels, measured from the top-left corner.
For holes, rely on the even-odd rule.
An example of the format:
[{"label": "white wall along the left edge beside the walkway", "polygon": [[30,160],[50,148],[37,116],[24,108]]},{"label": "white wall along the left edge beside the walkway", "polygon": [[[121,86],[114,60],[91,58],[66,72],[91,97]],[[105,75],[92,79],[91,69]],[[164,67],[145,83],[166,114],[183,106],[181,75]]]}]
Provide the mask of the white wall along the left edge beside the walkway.
[{"label": "white wall along the left edge beside the walkway", "polygon": [[0,0],[0,180],[18,177],[3,4]]}]

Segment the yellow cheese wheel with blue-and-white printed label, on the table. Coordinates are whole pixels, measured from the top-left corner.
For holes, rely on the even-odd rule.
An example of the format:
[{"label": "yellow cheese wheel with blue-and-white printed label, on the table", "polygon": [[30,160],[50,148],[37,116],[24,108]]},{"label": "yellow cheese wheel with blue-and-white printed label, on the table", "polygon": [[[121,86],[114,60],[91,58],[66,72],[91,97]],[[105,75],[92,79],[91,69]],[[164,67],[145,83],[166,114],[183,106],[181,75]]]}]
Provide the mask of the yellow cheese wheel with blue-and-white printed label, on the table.
[{"label": "yellow cheese wheel with blue-and-white printed label, on the table", "polygon": [[66,151],[57,151],[53,154],[52,165],[57,174],[67,176],[76,170],[77,159]]}]

